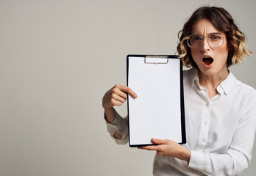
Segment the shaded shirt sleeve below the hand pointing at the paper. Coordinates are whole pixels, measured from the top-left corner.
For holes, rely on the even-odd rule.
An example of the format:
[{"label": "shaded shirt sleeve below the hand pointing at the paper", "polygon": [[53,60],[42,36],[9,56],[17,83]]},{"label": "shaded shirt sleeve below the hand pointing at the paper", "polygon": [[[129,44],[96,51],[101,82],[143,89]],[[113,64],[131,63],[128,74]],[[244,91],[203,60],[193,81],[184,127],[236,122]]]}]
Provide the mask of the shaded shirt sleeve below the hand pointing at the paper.
[{"label": "shaded shirt sleeve below the hand pointing at the paper", "polygon": [[[106,114],[104,113],[104,120],[107,124],[107,131],[110,133],[110,136],[115,140],[117,144],[127,144],[129,135],[128,135],[128,118],[121,117],[117,111],[115,111],[115,120],[111,123],[107,122]],[[113,135],[115,133],[120,133],[122,135],[121,139],[116,139]]]}]

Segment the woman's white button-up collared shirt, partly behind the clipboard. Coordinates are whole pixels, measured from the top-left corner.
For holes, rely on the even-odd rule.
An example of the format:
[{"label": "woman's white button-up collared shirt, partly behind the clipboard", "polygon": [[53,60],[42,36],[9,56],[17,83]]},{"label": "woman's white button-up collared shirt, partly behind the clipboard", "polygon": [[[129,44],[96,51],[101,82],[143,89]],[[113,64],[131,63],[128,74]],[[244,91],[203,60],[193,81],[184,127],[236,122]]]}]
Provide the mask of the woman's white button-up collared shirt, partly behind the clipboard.
[{"label": "woman's white button-up collared shirt, partly behind the clipboard", "polygon": [[[207,98],[207,89],[200,86],[198,70],[183,72],[185,125],[191,160],[155,155],[154,175],[238,175],[248,167],[256,129],[256,91],[238,81],[232,73],[218,85],[218,94]],[[146,122],[145,122],[146,123]],[[107,123],[113,137],[117,131],[128,142],[127,117],[116,113]]]}]

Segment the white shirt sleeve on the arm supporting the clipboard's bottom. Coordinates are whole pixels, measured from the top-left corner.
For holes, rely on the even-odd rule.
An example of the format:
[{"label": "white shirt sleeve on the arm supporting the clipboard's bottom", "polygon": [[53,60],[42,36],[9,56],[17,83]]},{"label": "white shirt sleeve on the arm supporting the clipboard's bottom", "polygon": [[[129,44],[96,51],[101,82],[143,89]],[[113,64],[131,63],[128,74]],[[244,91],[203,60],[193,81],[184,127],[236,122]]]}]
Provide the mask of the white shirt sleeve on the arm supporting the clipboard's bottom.
[{"label": "white shirt sleeve on the arm supporting the clipboard's bottom", "polygon": [[238,175],[249,165],[256,129],[256,103],[239,120],[227,153],[191,151],[189,167],[206,175]]}]

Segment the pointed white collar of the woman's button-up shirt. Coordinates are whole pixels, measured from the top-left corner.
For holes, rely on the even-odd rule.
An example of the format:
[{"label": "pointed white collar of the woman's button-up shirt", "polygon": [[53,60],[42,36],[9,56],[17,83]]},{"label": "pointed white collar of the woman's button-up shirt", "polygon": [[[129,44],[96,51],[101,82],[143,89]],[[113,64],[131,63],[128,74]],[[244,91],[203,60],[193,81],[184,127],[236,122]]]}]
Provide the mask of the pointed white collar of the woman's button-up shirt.
[{"label": "pointed white collar of the woman's button-up shirt", "polygon": [[[196,68],[193,68],[190,71],[191,71],[191,74],[190,74],[191,86],[193,87],[193,85],[196,84],[198,89],[204,89],[199,84],[198,70]],[[224,81],[222,81],[221,84],[218,85],[218,87],[221,87],[221,89],[227,95],[232,89],[233,85],[235,84],[235,81],[236,81],[235,76],[230,72],[227,78],[225,78]],[[218,87],[217,87],[217,90],[218,90]]]}]

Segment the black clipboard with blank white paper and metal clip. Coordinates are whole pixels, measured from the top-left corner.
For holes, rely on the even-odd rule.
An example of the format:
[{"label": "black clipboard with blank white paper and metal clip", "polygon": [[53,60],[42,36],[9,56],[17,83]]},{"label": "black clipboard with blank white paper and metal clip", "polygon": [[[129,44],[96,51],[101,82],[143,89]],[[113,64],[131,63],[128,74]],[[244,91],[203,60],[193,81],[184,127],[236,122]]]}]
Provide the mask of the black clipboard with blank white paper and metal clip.
[{"label": "black clipboard with blank white paper and metal clip", "polygon": [[186,143],[182,61],[176,55],[127,55],[129,147],[152,138]]}]

